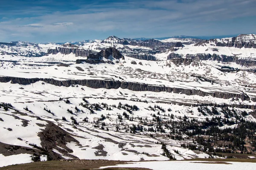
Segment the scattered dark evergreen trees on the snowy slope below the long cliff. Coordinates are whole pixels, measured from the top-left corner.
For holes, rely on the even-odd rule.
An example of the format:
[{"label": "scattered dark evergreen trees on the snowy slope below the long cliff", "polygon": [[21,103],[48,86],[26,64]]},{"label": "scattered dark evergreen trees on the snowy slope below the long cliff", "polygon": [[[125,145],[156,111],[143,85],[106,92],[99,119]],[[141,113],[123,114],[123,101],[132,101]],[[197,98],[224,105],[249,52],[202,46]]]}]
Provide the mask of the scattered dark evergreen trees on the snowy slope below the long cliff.
[{"label": "scattered dark evergreen trees on the snowy slope below the long cliff", "polygon": [[[60,98],[60,100],[63,100]],[[166,109],[160,107],[159,105],[148,106],[148,111],[153,111],[151,113],[152,119],[148,117],[135,116],[135,111],[140,111],[137,105],[129,104],[119,104],[108,105],[107,103],[93,103],[90,104],[85,97],[83,97],[83,102],[79,103],[79,106],[86,108],[90,111],[90,114],[95,113],[95,111],[111,111],[114,108],[119,110],[124,110],[121,113],[116,113],[118,124],[116,124],[116,130],[125,130],[128,133],[141,133],[150,132],[149,136],[154,137],[154,133],[165,133],[166,137],[174,140],[186,140],[193,139],[193,144],[182,144],[181,147],[186,147],[191,150],[199,150],[203,152],[209,152],[215,156],[220,153],[252,153],[255,152],[256,148],[256,123],[249,122],[245,118],[249,115],[247,111],[241,111],[236,108],[231,108],[230,105],[217,105],[217,104],[200,104],[198,103],[197,111],[198,113],[206,116],[204,120],[198,120],[195,118],[188,118],[184,116],[175,116],[172,108]],[[68,99],[64,100],[65,103],[70,104]],[[0,107],[12,108],[11,104],[1,103]],[[243,108],[241,106],[240,108]],[[246,107],[245,107],[246,108]],[[24,110],[29,110],[28,107]],[[44,108],[48,113],[52,113],[47,108]],[[67,109],[67,112],[74,114],[72,109]],[[75,112],[82,112],[79,108],[75,107]],[[187,110],[189,113],[193,113],[192,110]],[[53,113],[52,113],[53,114]],[[199,114],[199,116],[200,116]],[[54,115],[54,114],[53,114]],[[210,118],[208,117],[210,116]],[[79,122],[71,116],[73,125],[79,125]],[[112,119],[110,114],[101,114],[97,120],[93,120],[94,127],[101,128],[103,130],[109,130],[106,127],[105,119]],[[62,116],[62,120],[67,121],[67,119]],[[134,122],[132,125],[125,125],[125,121]],[[82,122],[87,123],[88,117],[85,117]],[[81,123],[81,122],[80,122]],[[136,125],[137,123],[137,125]],[[237,127],[231,128],[220,128],[224,125],[238,125]],[[225,144],[223,144],[223,142]],[[244,144],[250,144],[250,148],[245,147]],[[168,150],[163,144],[164,155],[168,157]],[[178,153],[178,151],[175,151]],[[146,153],[144,153],[146,154]],[[215,155],[214,155],[215,154]],[[175,159],[171,157],[170,159]],[[37,159],[37,158],[33,158]]]}]

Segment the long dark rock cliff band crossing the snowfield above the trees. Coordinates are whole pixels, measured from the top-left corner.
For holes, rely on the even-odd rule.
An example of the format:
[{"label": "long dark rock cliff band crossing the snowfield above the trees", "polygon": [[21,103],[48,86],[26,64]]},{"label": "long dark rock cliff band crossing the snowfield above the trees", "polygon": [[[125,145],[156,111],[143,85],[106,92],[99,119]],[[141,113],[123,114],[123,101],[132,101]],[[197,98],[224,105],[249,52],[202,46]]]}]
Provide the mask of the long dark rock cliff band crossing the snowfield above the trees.
[{"label": "long dark rock cliff band crossing the snowfield above the trees", "polygon": [[43,78],[20,78],[20,77],[0,77],[0,82],[10,82],[13,84],[27,85],[38,81],[43,81],[51,85],[65,86],[70,85],[83,85],[89,88],[106,88],[106,89],[129,89],[131,91],[153,91],[153,92],[173,92],[175,94],[186,95],[198,95],[198,96],[212,96],[222,99],[240,98],[241,100],[250,100],[250,97],[246,94],[233,94],[223,92],[204,92],[196,89],[184,89],[184,88],[172,88],[157,85],[147,85],[137,82],[120,82],[115,80],[99,80],[99,79],[78,79],[78,80],[55,80],[55,79],[43,79]]}]

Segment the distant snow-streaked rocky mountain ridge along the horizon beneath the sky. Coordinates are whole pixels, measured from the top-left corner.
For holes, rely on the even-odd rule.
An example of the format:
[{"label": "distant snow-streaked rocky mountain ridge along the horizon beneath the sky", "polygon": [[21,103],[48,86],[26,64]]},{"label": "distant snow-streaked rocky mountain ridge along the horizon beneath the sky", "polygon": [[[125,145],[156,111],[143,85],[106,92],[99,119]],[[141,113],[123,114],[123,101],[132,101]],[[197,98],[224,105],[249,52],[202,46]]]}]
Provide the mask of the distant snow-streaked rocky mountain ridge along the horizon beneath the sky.
[{"label": "distant snow-streaked rocky mountain ridge along the horizon beneath the sky", "polygon": [[[3,54],[10,54],[13,56],[26,56],[26,57],[41,57],[47,54],[75,54],[75,57],[88,57],[89,54],[96,54],[101,50],[105,50],[108,47],[116,48],[123,55],[128,57],[133,57],[136,59],[144,59],[144,60],[166,60],[171,59],[173,56],[181,56],[186,58],[190,56],[198,56],[198,55],[211,55],[215,54],[218,56],[218,61],[224,61],[222,56],[226,56],[226,58],[230,58],[230,62],[247,60],[246,56],[242,53],[236,54],[232,49],[228,49],[229,54],[223,54],[220,50],[222,47],[235,47],[235,48],[256,48],[256,38],[255,34],[241,34],[237,37],[233,38],[223,38],[223,39],[211,39],[211,40],[197,40],[197,39],[184,39],[184,38],[175,38],[168,40],[133,40],[128,38],[120,39],[115,36],[110,36],[101,42],[96,42],[93,40],[66,43],[62,45],[58,44],[35,44],[31,42],[13,42],[13,43],[2,43],[0,52]],[[195,52],[189,52],[185,50],[186,48],[191,48],[192,50],[206,48],[204,51],[196,52],[197,54],[193,54]],[[216,47],[216,48],[214,48]],[[22,53],[21,48],[24,48],[24,53]],[[221,48],[221,49],[218,49]],[[6,50],[9,49],[9,50]],[[11,52],[12,51],[12,52]],[[14,52],[16,51],[16,52]],[[184,52],[186,51],[185,55]],[[216,51],[216,52],[215,52]],[[251,53],[256,54],[256,52]],[[251,56],[250,54],[250,56]],[[242,59],[239,58],[239,55]],[[161,56],[161,57],[160,57]],[[162,57],[163,56],[163,57]],[[179,58],[178,57],[178,58]],[[240,57],[240,58],[241,58]],[[195,57],[193,57],[195,58]],[[206,57],[209,59],[209,57]],[[213,59],[214,60],[214,59]],[[248,60],[253,60],[251,57]],[[229,59],[227,59],[229,61]],[[236,62],[235,61],[235,62]],[[237,62],[240,63],[240,62]],[[250,63],[243,65],[252,65]]]}]

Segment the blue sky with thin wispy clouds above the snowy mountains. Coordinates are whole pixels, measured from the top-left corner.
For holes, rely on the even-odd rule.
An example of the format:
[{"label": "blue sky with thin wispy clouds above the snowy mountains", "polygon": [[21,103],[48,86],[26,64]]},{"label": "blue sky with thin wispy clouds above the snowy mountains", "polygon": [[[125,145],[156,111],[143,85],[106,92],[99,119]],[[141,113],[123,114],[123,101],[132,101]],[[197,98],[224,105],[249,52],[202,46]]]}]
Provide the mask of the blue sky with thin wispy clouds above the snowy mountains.
[{"label": "blue sky with thin wispy clouds above the snowy mountains", "polygon": [[256,33],[256,0],[1,0],[0,42]]}]

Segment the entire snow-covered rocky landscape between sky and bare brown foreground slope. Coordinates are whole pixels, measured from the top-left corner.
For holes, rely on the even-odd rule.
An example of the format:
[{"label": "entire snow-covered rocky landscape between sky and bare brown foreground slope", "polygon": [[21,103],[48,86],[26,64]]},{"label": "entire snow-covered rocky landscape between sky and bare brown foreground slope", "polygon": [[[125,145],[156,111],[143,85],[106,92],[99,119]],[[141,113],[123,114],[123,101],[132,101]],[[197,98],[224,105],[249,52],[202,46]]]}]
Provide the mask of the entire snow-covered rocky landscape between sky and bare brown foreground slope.
[{"label": "entire snow-covered rocky landscape between sky and bare brown foreground slope", "polygon": [[256,35],[0,42],[0,167],[256,159]]}]

